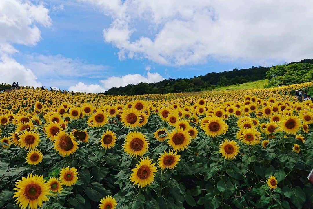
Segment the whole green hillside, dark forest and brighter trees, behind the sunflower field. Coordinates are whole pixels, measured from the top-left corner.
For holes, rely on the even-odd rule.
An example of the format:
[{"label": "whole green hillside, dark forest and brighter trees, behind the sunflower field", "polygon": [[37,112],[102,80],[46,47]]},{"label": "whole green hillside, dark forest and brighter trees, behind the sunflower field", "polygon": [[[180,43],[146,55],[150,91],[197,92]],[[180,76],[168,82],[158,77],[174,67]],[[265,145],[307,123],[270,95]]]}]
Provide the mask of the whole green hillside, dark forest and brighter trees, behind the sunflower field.
[{"label": "whole green hillside, dark forest and brighter trees, behind the sunflower field", "polygon": [[[199,92],[213,89],[227,89],[228,86],[239,85],[268,79],[267,87],[309,82],[313,78],[313,59],[290,62],[272,67],[250,67],[249,69],[233,69],[225,72],[211,72],[193,78],[165,79],[157,83],[128,84],[124,87],[113,87],[100,94],[106,95],[141,95],[167,94],[177,92]],[[266,85],[266,83],[264,83]],[[253,87],[253,86],[252,86]],[[264,86],[262,86],[264,87]]]}]

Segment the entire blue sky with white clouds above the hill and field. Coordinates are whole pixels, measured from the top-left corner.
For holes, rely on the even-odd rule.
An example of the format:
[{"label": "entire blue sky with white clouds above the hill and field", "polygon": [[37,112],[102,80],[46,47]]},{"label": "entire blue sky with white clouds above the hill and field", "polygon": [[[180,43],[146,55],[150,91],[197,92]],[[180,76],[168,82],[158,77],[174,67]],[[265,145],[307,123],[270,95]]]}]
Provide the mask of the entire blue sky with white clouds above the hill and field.
[{"label": "entire blue sky with white clouds above the hill and field", "polygon": [[313,57],[313,1],[1,0],[0,82],[69,91]]}]

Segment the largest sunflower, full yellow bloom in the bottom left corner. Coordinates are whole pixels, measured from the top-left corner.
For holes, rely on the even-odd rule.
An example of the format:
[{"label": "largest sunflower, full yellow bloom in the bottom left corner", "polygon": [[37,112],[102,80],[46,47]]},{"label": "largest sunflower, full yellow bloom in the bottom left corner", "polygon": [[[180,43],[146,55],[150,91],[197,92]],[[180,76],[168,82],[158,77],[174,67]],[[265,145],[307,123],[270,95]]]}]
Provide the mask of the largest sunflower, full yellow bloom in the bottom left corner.
[{"label": "largest sunflower, full yellow bloom in the bottom left corner", "polygon": [[37,209],[37,205],[42,207],[44,201],[48,201],[49,186],[43,176],[37,176],[31,173],[26,178],[18,180],[15,183],[13,198],[16,198],[16,204],[22,209],[28,206],[29,209]]}]

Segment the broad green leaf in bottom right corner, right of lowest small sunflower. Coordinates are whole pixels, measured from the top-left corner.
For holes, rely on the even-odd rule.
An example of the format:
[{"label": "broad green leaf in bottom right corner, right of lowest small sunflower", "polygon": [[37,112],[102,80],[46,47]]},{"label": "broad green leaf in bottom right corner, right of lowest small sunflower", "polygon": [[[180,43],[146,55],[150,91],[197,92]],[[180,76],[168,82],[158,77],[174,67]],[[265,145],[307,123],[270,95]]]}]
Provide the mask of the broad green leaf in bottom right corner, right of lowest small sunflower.
[{"label": "broad green leaf in bottom right corner, right of lowest small sunflower", "polygon": [[302,208],[302,205],[305,203],[305,193],[299,186],[295,188],[284,186],[283,192],[286,197],[290,198],[295,207]]}]

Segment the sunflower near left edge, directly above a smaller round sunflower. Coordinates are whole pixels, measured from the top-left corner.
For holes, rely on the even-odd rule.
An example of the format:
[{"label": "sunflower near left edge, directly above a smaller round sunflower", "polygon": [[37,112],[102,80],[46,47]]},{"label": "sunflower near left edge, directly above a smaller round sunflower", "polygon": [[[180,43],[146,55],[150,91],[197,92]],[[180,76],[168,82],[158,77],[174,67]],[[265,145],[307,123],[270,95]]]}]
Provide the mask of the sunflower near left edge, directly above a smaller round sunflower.
[{"label": "sunflower near left edge, directly above a smaller round sunflower", "polygon": [[39,134],[35,131],[24,131],[18,140],[18,145],[24,147],[25,150],[31,150],[39,145]]}]

